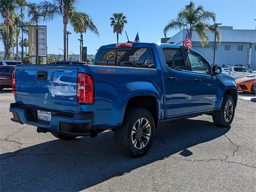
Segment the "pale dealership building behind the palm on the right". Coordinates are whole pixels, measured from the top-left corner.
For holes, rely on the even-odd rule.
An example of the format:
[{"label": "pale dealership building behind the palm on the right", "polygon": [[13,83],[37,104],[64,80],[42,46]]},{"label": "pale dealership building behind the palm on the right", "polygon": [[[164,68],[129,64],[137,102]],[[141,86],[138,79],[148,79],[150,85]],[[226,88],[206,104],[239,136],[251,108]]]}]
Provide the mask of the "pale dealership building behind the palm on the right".
[{"label": "pale dealership building behind the palm on the right", "polygon": [[[250,69],[256,70],[256,30],[237,30],[232,26],[218,26],[221,33],[221,44],[218,44],[216,38],[215,64],[221,67],[230,66],[246,66],[247,65],[247,49],[250,47],[248,42],[254,42],[251,45]],[[173,37],[161,39],[162,43],[172,43],[182,45],[186,37],[187,30],[183,29]],[[202,47],[196,32],[192,34],[192,48],[198,50],[212,64],[214,51],[214,33],[209,33],[209,44]]]}]

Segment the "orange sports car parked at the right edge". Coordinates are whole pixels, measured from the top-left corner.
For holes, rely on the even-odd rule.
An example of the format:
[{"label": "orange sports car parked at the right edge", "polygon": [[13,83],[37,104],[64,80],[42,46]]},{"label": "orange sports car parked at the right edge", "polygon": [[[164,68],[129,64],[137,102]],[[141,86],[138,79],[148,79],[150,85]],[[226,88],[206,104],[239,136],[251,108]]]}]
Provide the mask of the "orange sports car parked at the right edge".
[{"label": "orange sports car parked at the right edge", "polygon": [[238,78],[236,80],[236,86],[238,91],[252,92],[252,94],[256,94],[256,76],[252,78]]}]

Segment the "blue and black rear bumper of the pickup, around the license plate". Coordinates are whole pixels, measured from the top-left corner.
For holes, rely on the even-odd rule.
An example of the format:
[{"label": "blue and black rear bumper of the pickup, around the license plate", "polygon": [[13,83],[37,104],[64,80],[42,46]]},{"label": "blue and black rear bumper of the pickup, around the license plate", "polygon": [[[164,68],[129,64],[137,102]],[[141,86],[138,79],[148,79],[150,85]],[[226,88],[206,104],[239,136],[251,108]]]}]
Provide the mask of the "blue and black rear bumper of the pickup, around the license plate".
[{"label": "blue and black rear bumper of the pickup, around the license plate", "polygon": [[51,122],[39,122],[37,110],[25,106],[17,106],[16,103],[10,104],[10,112],[13,114],[11,120],[20,124],[28,124],[42,128],[48,132],[59,133],[70,136],[89,136],[92,128],[94,114],[92,112],[83,114],[67,114],[56,111],[51,112]]}]

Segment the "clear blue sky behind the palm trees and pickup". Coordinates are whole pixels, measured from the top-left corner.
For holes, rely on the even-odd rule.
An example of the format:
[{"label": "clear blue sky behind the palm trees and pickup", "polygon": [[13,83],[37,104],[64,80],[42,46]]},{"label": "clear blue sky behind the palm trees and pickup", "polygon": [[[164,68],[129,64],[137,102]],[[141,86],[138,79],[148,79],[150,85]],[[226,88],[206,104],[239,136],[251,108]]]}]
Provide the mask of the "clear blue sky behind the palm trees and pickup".
[{"label": "clear blue sky behind the palm trees and pickup", "polygon": [[[40,2],[31,0],[30,2]],[[256,22],[256,1],[255,0],[194,0],[196,6],[202,4],[206,10],[216,13],[216,22],[225,26],[233,26],[234,29],[255,29]],[[179,10],[189,0],[81,0],[77,11],[86,12],[94,20],[100,37],[87,32],[84,34],[84,46],[88,47],[88,54],[95,54],[100,46],[116,43],[116,34],[110,27],[110,17],[115,12],[122,12],[128,20],[126,30],[130,40],[134,41],[138,31],[140,42],[160,42],[163,38],[163,28],[169,20],[176,18]],[[2,18],[0,18],[2,22]],[[62,17],[56,20],[39,23],[47,25],[47,46],[48,53],[63,54],[63,24]],[[69,51],[79,53],[79,34],[74,33],[72,26],[68,25],[67,30],[72,32],[69,35]],[[178,31],[171,31],[168,37]],[[20,34],[21,36],[21,34]],[[26,35],[25,35],[26,37]],[[125,33],[119,38],[119,42],[126,42]],[[4,50],[0,42],[0,50]],[[21,50],[21,48],[20,48]]]}]

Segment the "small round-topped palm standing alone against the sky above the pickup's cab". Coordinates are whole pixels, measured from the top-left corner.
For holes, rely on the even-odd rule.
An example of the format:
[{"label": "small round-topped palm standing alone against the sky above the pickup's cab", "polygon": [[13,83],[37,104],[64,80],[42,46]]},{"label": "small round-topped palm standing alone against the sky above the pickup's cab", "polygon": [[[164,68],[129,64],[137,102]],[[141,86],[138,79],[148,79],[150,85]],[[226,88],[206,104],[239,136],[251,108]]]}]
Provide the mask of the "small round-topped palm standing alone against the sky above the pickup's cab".
[{"label": "small round-topped palm standing alone against the sky above the pickup's cab", "polygon": [[110,20],[110,26],[113,27],[113,33],[116,33],[116,40],[118,43],[118,34],[122,35],[124,24],[127,24],[128,21],[126,20],[126,16],[124,16],[123,13],[114,13]]}]

